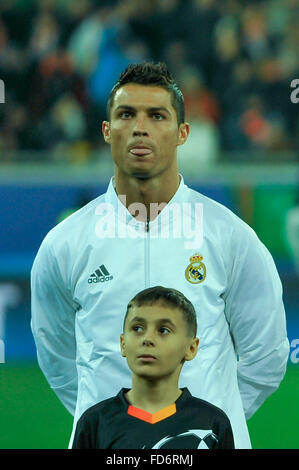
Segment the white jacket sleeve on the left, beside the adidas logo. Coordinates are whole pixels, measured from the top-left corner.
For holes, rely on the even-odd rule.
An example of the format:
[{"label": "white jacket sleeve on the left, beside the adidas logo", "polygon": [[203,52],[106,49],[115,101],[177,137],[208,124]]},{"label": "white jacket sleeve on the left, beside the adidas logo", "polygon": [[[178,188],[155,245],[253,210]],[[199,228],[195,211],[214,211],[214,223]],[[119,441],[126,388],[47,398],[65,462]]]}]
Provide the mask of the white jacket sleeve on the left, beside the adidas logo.
[{"label": "white jacket sleeve on the left, beside the adidas logo", "polygon": [[31,329],[39,366],[53,391],[73,415],[78,389],[76,310],[77,305],[46,237],[31,270]]}]

